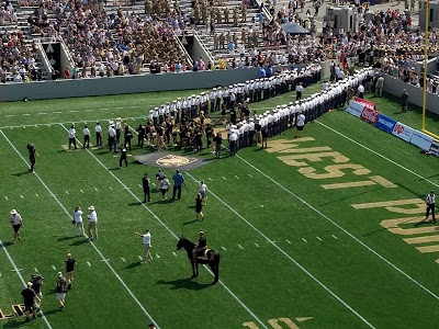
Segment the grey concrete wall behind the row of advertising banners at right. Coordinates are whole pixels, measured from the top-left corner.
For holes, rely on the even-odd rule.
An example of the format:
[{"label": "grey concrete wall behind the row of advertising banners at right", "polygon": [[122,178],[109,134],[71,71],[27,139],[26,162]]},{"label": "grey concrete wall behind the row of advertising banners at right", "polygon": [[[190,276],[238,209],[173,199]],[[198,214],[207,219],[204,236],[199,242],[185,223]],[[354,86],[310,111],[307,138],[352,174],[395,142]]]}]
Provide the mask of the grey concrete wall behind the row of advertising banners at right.
[{"label": "grey concrete wall behind the row of advertising banners at right", "polygon": [[[403,80],[395,79],[391,76],[382,73],[384,77],[384,91],[397,98],[406,89],[408,93],[408,102],[423,107],[423,88],[405,83]],[[427,111],[439,114],[439,95],[427,92]]]}]

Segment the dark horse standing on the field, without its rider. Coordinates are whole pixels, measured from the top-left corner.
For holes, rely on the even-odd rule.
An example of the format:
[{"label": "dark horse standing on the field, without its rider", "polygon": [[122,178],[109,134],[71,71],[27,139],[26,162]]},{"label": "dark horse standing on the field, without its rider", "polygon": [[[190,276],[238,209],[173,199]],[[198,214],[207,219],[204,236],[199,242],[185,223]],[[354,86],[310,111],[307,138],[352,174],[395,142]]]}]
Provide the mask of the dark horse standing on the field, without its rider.
[{"label": "dark horse standing on the field, without its rider", "polygon": [[209,264],[211,268],[213,274],[215,275],[215,280],[213,281],[212,284],[215,284],[219,280],[219,253],[216,252],[214,249],[206,249],[205,251],[205,258],[200,258],[198,257],[196,260],[193,259],[192,251],[195,248],[195,243],[189,241],[185,239],[183,236],[179,239],[177,243],[177,250],[179,251],[180,249],[184,249],[185,252],[188,253],[189,261],[191,262],[192,265],[192,277],[194,279],[199,276],[199,263],[200,264]]}]

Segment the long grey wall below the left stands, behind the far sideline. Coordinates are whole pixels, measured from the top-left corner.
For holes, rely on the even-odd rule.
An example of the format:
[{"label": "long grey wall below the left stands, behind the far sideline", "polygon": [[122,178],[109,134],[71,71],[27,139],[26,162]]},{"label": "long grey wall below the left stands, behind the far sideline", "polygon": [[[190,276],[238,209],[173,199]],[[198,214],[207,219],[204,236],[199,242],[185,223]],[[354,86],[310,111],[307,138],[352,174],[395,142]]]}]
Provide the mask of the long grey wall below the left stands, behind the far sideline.
[{"label": "long grey wall below the left stands, behind the far sideline", "polygon": [[258,78],[258,69],[88,78],[1,84],[0,101],[65,99],[150,91],[206,89]]}]

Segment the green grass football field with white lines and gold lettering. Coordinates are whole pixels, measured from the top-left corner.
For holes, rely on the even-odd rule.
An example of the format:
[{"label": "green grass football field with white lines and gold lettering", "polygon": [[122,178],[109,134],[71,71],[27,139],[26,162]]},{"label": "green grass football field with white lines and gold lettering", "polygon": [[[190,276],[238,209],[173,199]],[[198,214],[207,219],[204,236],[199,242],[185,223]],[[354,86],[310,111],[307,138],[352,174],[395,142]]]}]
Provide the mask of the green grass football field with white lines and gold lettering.
[{"label": "green grass football field with white lines and gold lettering", "polygon": [[[312,93],[312,87],[305,91]],[[196,91],[199,92],[199,91]],[[0,309],[12,314],[34,272],[44,275],[43,314],[0,319],[2,328],[323,329],[438,328],[439,235],[425,218],[425,197],[439,191],[438,159],[344,111],[269,139],[268,148],[224,150],[184,171],[180,201],[158,192],[142,203],[142,177],[157,167],[106,147],[66,150],[67,129],[127,117],[145,123],[151,106],[193,91],[0,104]],[[252,104],[266,111],[294,93]],[[374,100],[374,99],[373,99]],[[396,113],[393,99],[379,110],[414,128],[420,114]],[[437,117],[428,117],[437,132]],[[217,127],[215,127],[216,129]],[[93,143],[93,135],[91,143]],[[105,138],[106,139],[106,138]],[[131,156],[137,149],[133,139]],[[105,140],[104,140],[105,141]],[[205,141],[205,140],[203,140]],[[26,145],[36,146],[29,173]],[[105,143],[104,143],[105,144]],[[170,155],[194,158],[170,149]],[[175,169],[164,169],[168,177]],[[195,220],[199,182],[207,184],[204,222]],[[168,197],[169,198],[169,197]],[[93,205],[99,239],[76,237],[71,217]],[[22,215],[22,240],[12,245],[9,212]],[[85,216],[86,217],[86,216]],[[142,238],[151,232],[154,261],[143,264]],[[181,235],[196,241],[204,230],[221,253],[219,283],[192,270],[177,251]],[[58,310],[55,283],[64,260],[77,260],[66,308]]]}]

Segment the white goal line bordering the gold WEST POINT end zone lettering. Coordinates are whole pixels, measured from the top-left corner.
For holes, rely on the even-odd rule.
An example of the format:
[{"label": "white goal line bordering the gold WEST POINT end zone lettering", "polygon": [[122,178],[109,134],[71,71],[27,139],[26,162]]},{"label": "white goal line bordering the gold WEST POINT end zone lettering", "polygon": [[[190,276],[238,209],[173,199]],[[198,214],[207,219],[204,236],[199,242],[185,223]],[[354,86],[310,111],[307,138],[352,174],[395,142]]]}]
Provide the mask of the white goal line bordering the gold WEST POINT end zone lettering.
[{"label": "white goal line bordering the gold WEST POINT end zone lettering", "polygon": [[[318,123],[318,122],[317,122]],[[356,236],[353,236],[350,231],[348,231],[346,228],[344,228],[341,225],[337,224],[336,222],[334,222],[333,219],[330,219],[327,215],[325,215],[324,213],[322,213],[319,209],[317,209],[316,207],[314,207],[312,204],[309,204],[307,201],[305,201],[304,198],[302,198],[301,196],[299,196],[297,194],[291,192],[289,189],[286,189],[285,186],[283,186],[281,183],[279,183],[278,181],[275,181],[273,178],[271,178],[270,175],[268,175],[267,173],[264,173],[263,171],[261,171],[259,168],[255,167],[252,163],[250,163],[249,161],[247,161],[246,159],[244,159],[241,156],[236,155],[237,158],[239,158],[243,162],[247,163],[247,166],[251,167],[252,169],[255,169],[256,171],[258,171],[260,174],[262,174],[263,177],[266,177],[268,180],[270,180],[271,182],[273,182],[275,185],[278,185],[279,188],[281,188],[283,191],[285,191],[286,193],[289,193],[290,195],[294,196],[296,200],[299,200],[300,202],[302,202],[304,205],[306,205],[308,208],[311,208],[312,211],[314,211],[315,213],[317,213],[318,215],[320,215],[323,218],[325,218],[327,222],[329,222],[330,224],[333,224],[335,227],[337,227],[338,229],[340,229],[341,231],[344,231],[347,236],[349,236],[350,238],[352,238],[353,240],[356,240],[358,243],[360,243],[361,246],[363,246],[365,249],[368,249],[370,252],[372,252],[373,254],[375,254],[378,258],[380,258],[382,261],[384,261],[385,263],[387,263],[391,268],[393,268],[394,270],[396,270],[397,272],[399,272],[401,274],[403,274],[403,276],[405,276],[406,279],[408,279],[409,281],[412,281],[414,284],[416,284],[417,286],[419,286],[421,290],[424,290],[425,292],[427,292],[429,295],[431,295],[432,297],[435,297],[436,299],[439,300],[439,296],[436,295],[432,291],[430,291],[428,287],[426,287],[425,285],[423,285],[419,281],[415,280],[414,277],[412,277],[410,275],[408,275],[407,273],[405,273],[403,270],[401,270],[398,266],[396,266],[394,263],[392,263],[390,260],[387,260],[385,257],[381,256],[381,253],[379,253],[378,251],[373,250],[371,247],[369,247],[368,245],[365,245],[363,241],[361,241],[359,238],[357,238]]]}]

